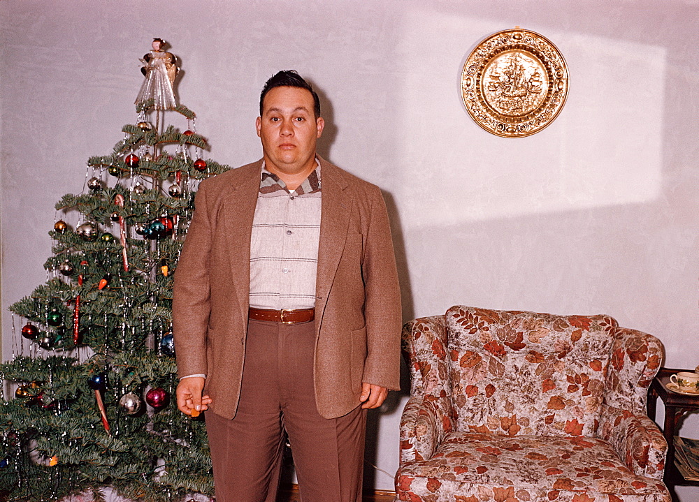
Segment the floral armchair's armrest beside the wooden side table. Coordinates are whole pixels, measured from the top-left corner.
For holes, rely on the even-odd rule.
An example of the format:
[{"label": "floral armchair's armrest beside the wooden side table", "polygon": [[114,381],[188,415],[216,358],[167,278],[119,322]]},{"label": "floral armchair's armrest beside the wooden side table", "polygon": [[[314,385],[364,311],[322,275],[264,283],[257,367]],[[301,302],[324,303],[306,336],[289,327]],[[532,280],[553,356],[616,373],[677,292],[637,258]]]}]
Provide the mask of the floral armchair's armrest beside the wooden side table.
[{"label": "floral armchair's armrest beside the wooden side table", "polygon": [[668,443],[647,416],[604,405],[597,436],[610,443],[635,474],[656,480],[663,478]]}]

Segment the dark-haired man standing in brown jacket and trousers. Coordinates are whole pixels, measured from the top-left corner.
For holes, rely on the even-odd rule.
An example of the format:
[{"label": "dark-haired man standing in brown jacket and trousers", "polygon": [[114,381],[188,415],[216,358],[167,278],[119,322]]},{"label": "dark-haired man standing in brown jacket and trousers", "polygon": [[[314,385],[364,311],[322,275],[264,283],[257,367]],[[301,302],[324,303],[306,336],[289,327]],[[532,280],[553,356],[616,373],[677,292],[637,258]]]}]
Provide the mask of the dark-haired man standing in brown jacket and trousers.
[{"label": "dark-haired man standing in brown jacket and trousers", "polygon": [[[401,302],[380,190],[316,153],[294,71],[265,84],[263,158],[201,183],[175,271],[178,407],[206,413],[217,502],[361,501],[366,409],[398,389]],[[196,414],[196,413],[195,413]]]}]

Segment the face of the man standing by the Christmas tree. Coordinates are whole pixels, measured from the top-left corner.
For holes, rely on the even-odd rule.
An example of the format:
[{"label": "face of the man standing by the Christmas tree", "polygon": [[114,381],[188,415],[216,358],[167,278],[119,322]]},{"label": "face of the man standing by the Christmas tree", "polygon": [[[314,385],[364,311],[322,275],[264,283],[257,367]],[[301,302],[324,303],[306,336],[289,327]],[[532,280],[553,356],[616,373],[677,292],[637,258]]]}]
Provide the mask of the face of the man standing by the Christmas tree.
[{"label": "face of the man standing by the Christmas tree", "polygon": [[308,169],[324,121],[315,118],[313,96],[300,87],[275,87],[264,97],[257,135],[272,172],[296,174]]}]

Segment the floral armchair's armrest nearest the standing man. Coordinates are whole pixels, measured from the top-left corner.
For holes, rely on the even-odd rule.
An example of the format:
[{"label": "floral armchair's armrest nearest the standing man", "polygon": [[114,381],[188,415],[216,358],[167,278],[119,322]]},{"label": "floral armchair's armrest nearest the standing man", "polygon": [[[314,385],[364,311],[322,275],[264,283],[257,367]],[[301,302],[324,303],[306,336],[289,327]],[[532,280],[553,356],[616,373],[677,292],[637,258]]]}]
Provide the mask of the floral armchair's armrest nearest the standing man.
[{"label": "floral armchair's armrest nearest the standing man", "polygon": [[454,413],[445,392],[408,399],[401,417],[401,464],[432,457],[453,428]]}]

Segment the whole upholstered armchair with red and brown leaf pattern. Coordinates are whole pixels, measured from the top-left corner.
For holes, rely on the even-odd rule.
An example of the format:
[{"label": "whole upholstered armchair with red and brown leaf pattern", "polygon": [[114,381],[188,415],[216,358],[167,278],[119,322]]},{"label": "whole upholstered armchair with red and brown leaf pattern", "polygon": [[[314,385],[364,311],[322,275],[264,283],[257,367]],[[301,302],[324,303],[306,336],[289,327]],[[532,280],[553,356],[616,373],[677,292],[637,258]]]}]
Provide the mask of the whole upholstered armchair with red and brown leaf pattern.
[{"label": "whole upholstered armchair with red and brown leaf pattern", "polygon": [[396,500],[669,502],[645,415],[663,358],[609,316],[452,307],[403,327]]}]

